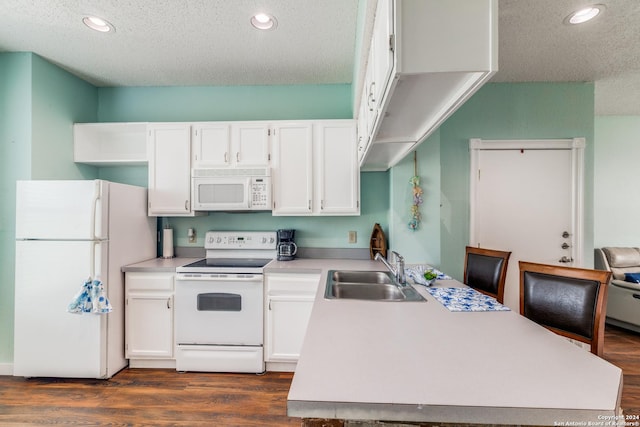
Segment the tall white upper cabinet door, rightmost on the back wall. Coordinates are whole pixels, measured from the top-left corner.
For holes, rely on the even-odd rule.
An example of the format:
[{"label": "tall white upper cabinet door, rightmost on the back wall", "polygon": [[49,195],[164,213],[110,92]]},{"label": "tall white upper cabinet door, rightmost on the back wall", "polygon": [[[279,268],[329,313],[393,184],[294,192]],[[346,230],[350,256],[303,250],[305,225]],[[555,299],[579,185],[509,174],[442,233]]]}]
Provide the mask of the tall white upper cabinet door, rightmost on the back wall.
[{"label": "tall white upper cabinet door, rightmost on the back wall", "polygon": [[360,214],[360,172],[353,120],[316,125],[315,206],[321,215]]}]

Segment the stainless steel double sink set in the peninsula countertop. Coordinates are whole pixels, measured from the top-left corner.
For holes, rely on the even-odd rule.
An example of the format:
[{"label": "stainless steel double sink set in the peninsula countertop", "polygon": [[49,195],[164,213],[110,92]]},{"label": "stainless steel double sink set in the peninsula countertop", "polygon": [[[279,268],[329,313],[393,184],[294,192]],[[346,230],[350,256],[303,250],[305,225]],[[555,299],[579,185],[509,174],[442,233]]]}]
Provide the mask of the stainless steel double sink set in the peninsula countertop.
[{"label": "stainless steel double sink set in the peninsula countertop", "polygon": [[426,301],[411,285],[397,283],[387,271],[329,270],[326,299]]}]

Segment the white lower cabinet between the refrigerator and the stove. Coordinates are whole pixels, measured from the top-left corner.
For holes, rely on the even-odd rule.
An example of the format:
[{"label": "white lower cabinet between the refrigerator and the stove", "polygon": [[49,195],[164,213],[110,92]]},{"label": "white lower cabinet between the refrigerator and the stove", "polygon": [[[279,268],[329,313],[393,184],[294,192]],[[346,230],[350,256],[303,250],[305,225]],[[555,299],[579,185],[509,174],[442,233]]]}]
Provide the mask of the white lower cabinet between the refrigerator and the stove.
[{"label": "white lower cabinet between the refrigerator and the stove", "polygon": [[174,273],[125,273],[125,357],[132,368],[175,368]]}]

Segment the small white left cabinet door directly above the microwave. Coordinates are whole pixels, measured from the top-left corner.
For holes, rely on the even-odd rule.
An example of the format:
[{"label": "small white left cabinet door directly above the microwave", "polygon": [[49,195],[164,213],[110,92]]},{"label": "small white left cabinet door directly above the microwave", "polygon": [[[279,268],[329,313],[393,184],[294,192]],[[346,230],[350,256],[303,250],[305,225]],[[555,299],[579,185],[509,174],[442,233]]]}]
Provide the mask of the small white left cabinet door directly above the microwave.
[{"label": "small white left cabinet door directly above the microwave", "polygon": [[228,123],[203,123],[193,127],[194,168],[224,167],[231,161],[231,126]]}]

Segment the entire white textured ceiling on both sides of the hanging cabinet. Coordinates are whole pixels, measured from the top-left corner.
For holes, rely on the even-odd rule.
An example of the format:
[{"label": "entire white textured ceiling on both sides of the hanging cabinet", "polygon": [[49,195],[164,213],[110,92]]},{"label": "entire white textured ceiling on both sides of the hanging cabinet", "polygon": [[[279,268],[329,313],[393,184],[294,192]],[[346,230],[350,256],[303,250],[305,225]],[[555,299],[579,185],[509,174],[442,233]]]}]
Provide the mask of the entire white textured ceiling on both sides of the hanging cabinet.
[{"label": "entire white textured ceiling on both sides of the hanging cabinet", "polygon": [[[361,0],[370,29],[375,0]],[[499,0],[496,82],[593,81],[596,114],[640,115],[640,1]],[[358,0],[0,0],[0,52],[31,51],[96,86],[351,83]],[[256,12],[275,31],[249,25]],[[116,27],[88,30],[94,14]]]}]

